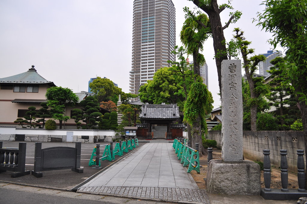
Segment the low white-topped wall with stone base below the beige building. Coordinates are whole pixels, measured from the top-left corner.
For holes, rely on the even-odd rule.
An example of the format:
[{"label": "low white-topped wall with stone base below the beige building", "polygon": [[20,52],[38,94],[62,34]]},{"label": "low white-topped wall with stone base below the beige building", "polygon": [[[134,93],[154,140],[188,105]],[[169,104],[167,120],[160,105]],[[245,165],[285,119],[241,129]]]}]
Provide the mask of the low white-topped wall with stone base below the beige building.
[{"label": "low white-topped wall with stone base below the beige building", "polygon": [[[93,143],[94,139],[111,142],[114,130],[45,130],[33,128],[0,127],[0,141],[66,142],[66,132],[73,132],[73,142]],[[23,140],[24,139],[24,140]]]}]

